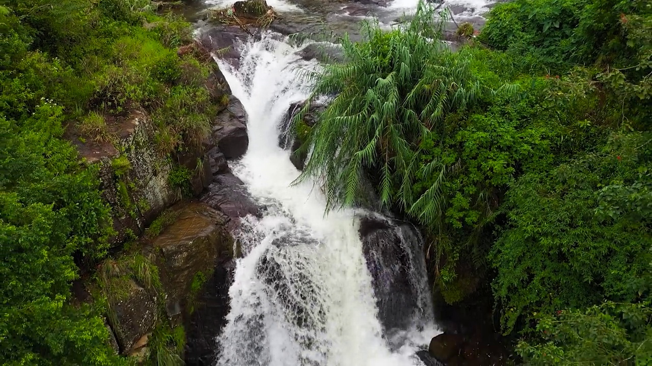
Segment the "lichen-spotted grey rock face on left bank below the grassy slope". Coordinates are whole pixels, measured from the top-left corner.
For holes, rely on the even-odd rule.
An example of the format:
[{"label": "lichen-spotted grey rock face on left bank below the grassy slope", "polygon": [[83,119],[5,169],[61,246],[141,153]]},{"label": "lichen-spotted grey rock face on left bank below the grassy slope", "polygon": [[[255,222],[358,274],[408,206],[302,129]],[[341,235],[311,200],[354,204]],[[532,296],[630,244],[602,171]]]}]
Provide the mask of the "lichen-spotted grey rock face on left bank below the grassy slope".
[{"label": "lichen-spotted grey rock face on left bank below the grassy slope", "polygon": [[[204,178],[209,162],[201,148],[190,148],[173,160],[163,159],[156,150],[155,126],[142,109],[132,109],[126,117],[110,124],[112,143],[82,142],[70,138],[85,163],[100,167],[102,198],[111,206],[113,229],[117,235],[110,239],[117,247],[126,238],[140,236],[145,227],[160,212],[179,199],[179,192],[170,186],[168,176],[177,161],[192,173],[194,193],[201,193],[209,180]],[[205,162],[206,169],[196,169]]]}]

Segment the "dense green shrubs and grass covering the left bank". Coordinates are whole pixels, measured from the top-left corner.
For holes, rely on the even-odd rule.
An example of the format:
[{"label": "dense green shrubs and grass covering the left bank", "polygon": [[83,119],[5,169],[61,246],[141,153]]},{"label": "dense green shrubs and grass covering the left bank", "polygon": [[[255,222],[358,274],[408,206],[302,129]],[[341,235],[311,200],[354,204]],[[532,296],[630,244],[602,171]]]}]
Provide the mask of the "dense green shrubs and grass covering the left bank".
[{"label": "dense green shrubs and grass covering the left bank", "polygon": [[0,6],[4,365],[125,362],[108,343],[103,302],[71,302],[79,266],[106,255],[113,231],[97,168],[80,165],[64,135],[112,143],[110,122],[141,108],[156,123],[161,156],[200,140],[215,103],[203,86],[209,68],[177,55],[189,32],[183,21],[156,16],[149,1]]}]

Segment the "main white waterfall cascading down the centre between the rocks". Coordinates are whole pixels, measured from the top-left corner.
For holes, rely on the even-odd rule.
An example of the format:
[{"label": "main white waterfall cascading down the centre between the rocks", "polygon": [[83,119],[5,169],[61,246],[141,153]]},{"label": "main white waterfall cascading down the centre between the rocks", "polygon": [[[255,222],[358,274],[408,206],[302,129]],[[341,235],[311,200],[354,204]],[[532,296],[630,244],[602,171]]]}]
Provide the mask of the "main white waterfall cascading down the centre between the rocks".
[{"label": "main white waterfall cascading down the centre between the rocks", "polygon": [[249,150],[233,172],[266,212],[245,218],[237,235],[244,257],[218,365],[421,365],[411,342],[422,339],[406,336],[405,346],[391,348],[383,337],[356,212],[325,216],[317,188],[291,186],[299,172],[278,147],[278,126],[289,105],[308,96],[301,68],[317,65],[269,33],[241,48],[237,70],[218,61],[248,115]]}]

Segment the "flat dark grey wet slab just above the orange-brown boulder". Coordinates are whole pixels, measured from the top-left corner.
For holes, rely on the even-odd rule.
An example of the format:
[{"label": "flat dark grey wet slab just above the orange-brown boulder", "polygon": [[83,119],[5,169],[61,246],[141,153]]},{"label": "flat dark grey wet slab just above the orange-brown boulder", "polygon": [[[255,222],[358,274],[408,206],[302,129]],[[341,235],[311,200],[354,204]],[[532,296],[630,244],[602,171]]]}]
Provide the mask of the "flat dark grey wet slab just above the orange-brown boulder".
[{"label": "flat dark grey wet slab just above the orange-brown boulder", "polygon": [[231,173],[216,175],[201,201],[228,216],[230,229],[237,227],[239,218],[250,214],[261,217],[262,214],[261,206],[249,197],[242,180]]}]

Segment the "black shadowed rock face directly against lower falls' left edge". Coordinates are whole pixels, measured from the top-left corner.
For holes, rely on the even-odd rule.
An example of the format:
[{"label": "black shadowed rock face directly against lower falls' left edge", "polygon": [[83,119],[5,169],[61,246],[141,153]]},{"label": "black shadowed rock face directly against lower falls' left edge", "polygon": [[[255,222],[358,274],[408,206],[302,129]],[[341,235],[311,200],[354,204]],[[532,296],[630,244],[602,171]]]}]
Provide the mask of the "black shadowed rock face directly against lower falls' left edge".
[{"label": "black shadowed rock face directly against lower falls' left edge", "polygon": [[220,260],[194,300],[190,317],[185,322],[186,365],[215,365],[220,352],[216,336],[226,326],[234,271],[232,259]]}]

